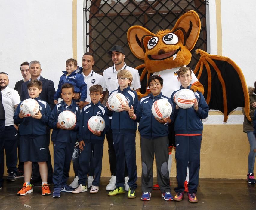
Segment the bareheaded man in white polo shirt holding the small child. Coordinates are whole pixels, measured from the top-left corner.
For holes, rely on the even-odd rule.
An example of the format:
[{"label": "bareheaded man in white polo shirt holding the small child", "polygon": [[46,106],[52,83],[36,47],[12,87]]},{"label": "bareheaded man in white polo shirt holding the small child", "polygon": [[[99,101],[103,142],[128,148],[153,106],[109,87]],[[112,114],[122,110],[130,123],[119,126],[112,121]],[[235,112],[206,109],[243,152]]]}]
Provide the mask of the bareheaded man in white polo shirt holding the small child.
[{"label": "bareheaded man in white polo shirt holding the small child", "polygon": [[[82,106],[86,106],[91,102],[91,97],[90,97],[90,87],[92,85],[101,85],[103,87],[103,97],[100,99],[100,102],[102,103],[104,99],[104,95],[106,94],[106,88],[104,88],[105,81],[102,75],[96,73],[93,71],[92,67],[94,65],[94,56],[91,52],[85,52],[82,58],[82,68],[78,67],[75,73],[80,73],[84,77],[84,81],[87,86],[87,98],[85,100],[85,104]],[[77,97],[77,98],[76,98]],[[76,93],[75,99],[79,99],[80,93]],[[82,108],[80,107],[80,109]],[[78,169],[79,169],[79,153],[80,149],[78,144],[76,144],[74,153],[72,156],[72,162],[73,162],[73,169],[75,172],[75,179],[74,181],[70,184],[71,187],[76,188],[78,187]],[[89,177],[88,177],[88,185],[87,187],[90,188],[92,186],[92,181],[94,180],[94,166],[93,166],[93,161],[91,158],[90,161],[90,171],[89,171]]]}]

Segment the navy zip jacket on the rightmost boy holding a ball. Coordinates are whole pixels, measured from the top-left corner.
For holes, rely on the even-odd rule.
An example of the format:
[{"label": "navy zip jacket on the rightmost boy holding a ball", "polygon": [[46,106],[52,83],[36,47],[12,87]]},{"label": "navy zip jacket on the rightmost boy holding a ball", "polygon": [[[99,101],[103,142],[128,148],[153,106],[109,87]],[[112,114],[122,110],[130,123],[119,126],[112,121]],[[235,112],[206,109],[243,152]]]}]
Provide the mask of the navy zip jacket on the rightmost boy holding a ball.
[{"label": "navy zip jacket on the rightmost boy holding a ball", "polygon": [[[191,85],[187,87],[190,89]],[[180,86],[180,90],[185,89]],[[177,90],[179,91],[179,90]],[[173,103],[173,107],[176,107],[176,104],[173,100],[174,94],[177,92],[174,91],[171,95],[171,101]],[[201,92],[194,92],[196,99],[198,101],[198,110],[194,109],[194,106],[190,107],[189,109],[176,109],[174,108],[174,131],[176,134],[201,134],[203,130],[203,123],[202,119],[208,117],[209,107],[205,101],[205,98]]]}]

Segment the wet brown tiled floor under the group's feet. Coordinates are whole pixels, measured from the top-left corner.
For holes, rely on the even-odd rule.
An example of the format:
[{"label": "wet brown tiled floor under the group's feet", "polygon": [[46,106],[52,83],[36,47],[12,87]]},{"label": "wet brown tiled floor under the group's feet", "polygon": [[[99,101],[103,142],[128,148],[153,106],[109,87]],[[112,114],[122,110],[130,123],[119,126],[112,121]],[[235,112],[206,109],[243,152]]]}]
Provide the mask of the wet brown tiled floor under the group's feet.
[{"label": "wet brown tiled floor under the group's feet", "polygon": [[[72,182],[72,178],[69,178],[69,182]],[[90,194],[89,190],[77,195],[61,193],[61,197],[56,199],[42,196],[40,187],[33,187],[34,192],[26,196],[17,196],[17,191],[23,184],[23,178],[19,178],[12,183],[4,182],[3,189],[0,189],[0,209],[256,209],[256,187],[247,184],[245,179],[199,179],[196,194],[198,203],[188,202],[187,195],[181,202],[167,202],[161,198],[159,190],[152,192],[150,201],[141,201],[140,178],[137,181],[137,198],[128,199],[127,193],[107,196],[105,187],[108,181],[108,177],[101,178],[100,191],[97,194]],[[171,193],[174,196],[176,179],[171,178],[171,184]],[[51,190],[53,191],[53,186]]]}]

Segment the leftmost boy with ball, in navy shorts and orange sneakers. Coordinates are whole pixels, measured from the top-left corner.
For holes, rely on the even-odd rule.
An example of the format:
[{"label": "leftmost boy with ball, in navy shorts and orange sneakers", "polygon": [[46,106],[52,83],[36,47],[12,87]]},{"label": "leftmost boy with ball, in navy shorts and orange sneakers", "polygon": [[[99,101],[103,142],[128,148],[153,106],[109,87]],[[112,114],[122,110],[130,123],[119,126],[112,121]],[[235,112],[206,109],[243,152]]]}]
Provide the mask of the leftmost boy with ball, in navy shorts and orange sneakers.
[{"label": "leftmost boy with ball, in navy shorts and orange sneakers", "polygon": [[50,195],[51,191],[47,183],[48,151],[46,143],[46,125],[51,115],[51,109],[47,102],[40,99],[39,94],[42,91],[42,82],[31,80],[27,84],[29,97],[35,99],[39,104],[39,111],[35,115],[24,114],[20,110],[20,104],[14,114],[14,122],[19,125],[20,133],[20,161],[24,162],[24,184],[18,195],[32,193],[33,188],[30,184],[32,173],[32,162],[38,162],[40,176],[42,179],[42,195]]}]

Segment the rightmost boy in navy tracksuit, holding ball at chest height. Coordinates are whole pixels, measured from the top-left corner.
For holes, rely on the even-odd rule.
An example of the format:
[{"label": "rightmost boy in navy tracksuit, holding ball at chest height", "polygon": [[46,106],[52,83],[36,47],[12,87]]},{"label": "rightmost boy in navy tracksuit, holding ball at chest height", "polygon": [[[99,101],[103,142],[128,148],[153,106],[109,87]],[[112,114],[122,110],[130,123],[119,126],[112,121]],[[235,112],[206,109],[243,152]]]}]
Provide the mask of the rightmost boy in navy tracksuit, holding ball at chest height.
[{"label": "rightmost boy in navy tracksuit, holding ball at chest height", "polygon": [[[191,69],[181,67],[178,71],[178,81],[180,89],[190,89],[192,79]],[[177,90],[179,91],[179,90]],[[177,193],[174,200],[181,201],[184,196],[184,182],[187,176],[187,166],[189,168],[188,199],[190,202],[198,202],[195,193],[197,192],[200,168],[200,148],[202,141],[203,123],[202,119],[208,116],[209,107],[201,92],[194,92],[196,100],[194,106],[188,109],[179,108],[173,100],[175,122],[175,142],[176,142],[176,163],[178,187],[174,190]]]}]

